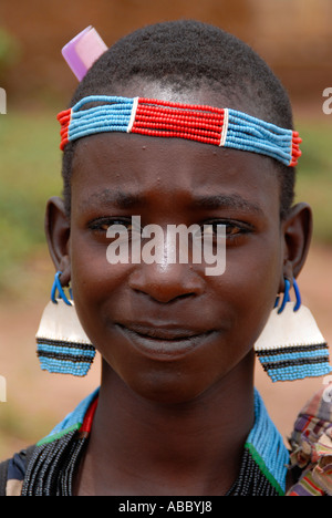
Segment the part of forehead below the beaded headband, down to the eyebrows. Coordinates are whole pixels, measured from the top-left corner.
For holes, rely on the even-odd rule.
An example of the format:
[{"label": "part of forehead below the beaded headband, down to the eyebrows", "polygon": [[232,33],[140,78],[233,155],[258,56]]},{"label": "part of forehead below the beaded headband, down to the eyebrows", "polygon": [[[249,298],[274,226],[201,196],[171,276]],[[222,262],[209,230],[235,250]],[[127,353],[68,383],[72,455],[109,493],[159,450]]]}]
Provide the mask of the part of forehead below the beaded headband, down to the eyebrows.
[{"label": "part of forehead below the beaded headband, down to the eyebrows", "polygon": [[[112,194],[112,196],[111,196]],[[79,142],[72,203],[81,207],[115,199],[141,205],[204,205],[204,197],[232,197],[279,214],[279,182],[268,157],[179,138],[100,134]],[[199,201],[200,200],[200,201]],[[239,204],[238,204],[239,205]]]}]

